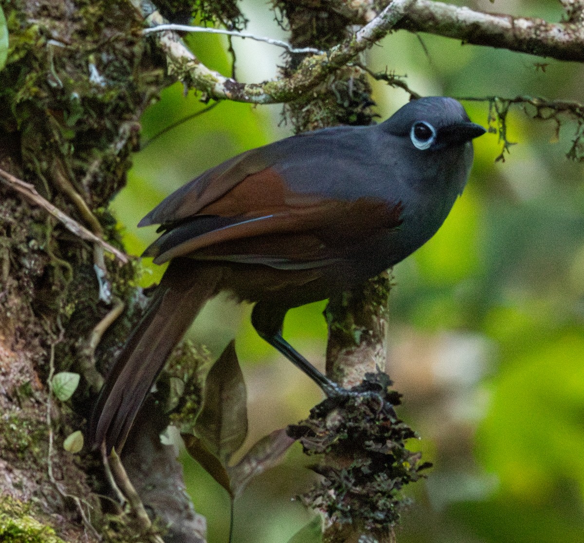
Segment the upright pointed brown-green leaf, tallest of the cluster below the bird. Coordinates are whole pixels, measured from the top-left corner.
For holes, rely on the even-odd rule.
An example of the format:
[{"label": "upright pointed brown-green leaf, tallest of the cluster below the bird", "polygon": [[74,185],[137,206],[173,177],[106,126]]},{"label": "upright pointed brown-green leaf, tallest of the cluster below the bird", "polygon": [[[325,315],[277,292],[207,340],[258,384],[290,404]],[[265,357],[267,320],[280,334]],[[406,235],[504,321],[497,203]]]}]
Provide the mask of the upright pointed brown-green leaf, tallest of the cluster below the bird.
[{"label": "upright pointed brown-green leaf, tallest of the cluster below the bird", "polygon": [[208,451],[227,466],[248,434],[247,393],[244,375],[231,341],[207,374],[203,407],[194,433]]}]

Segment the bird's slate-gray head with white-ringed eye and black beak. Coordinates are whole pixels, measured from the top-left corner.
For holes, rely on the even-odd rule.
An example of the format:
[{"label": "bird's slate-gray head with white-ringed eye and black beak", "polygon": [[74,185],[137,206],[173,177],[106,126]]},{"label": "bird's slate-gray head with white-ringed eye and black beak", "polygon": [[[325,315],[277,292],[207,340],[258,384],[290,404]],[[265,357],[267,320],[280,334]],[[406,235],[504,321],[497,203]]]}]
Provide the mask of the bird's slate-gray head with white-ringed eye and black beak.
[{"label": "bird's slate-gray head with white-ringed eye and black beak", "polygon": [[429,96],[406,103],[380,124],[394,136],[409,139],[409,146],[420,152],[460,146],[486,130],[471,123],[460,102],[454,98]]}]

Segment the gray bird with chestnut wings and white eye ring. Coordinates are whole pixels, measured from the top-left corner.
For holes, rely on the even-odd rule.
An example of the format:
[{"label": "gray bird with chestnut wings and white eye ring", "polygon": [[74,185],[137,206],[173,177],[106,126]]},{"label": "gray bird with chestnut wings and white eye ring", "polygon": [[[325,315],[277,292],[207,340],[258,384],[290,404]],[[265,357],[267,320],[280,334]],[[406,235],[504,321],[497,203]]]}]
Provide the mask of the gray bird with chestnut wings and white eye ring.
[{"label": "gray bird with chestnut wings and white eye ring", "polygon": [[105,379],[93,448],[120,451],[134,418],[208,299],[255,303],[252,325],[326,396],[343,392],[284,340],[286,312],[355,289],[426,243],[470,174],[486,131],[460,102],[429,96],[369,126],[306,132],[245,151],[165,198],[142,255],[169,262]]}]

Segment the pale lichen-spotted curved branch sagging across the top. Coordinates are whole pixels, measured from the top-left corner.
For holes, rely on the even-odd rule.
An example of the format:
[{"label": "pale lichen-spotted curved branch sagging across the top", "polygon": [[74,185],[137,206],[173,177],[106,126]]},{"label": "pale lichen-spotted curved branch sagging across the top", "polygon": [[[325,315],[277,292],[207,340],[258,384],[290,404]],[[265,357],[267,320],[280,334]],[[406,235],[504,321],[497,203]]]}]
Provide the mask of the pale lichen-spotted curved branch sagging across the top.
[{"label": "pale lichen-spotted curved branch sagging across the top", "polygon": [[[572,0],[565,0],[571,2]],[[166,23],[148,0],[130,0],[150,27]],[[576,4],[576,0],[573,0]],[[579,1],[572,6],[580,13]],[[577,9],[578,8],[578,9]],[[349,8],[350,9],[350,8]],[[356,8],[355,20],[362,20]],[[288,77],[245,84],[210,70],[186,47],[175,32],[157,33],[159,46],[166,53],[169,71],[207,98],[250,103],[283,103],[297,99],[324,81],[327,75],[346,65],[361,51],[391,30],[428,32],[471,43],[551,57],[562,61],[584,62],[584,26],[568,14],[566,23],[513,17],[473,11],[431,0],[393,0],[355,36],[327,53],[304,58]]]}]

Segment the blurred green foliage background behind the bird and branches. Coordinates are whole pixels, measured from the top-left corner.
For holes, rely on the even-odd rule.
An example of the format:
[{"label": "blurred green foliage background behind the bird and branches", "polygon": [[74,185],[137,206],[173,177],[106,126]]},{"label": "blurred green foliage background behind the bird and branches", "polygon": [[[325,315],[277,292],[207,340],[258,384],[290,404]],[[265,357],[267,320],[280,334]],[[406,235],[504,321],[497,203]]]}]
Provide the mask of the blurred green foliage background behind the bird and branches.
[{"label": "blurred green foliage background behind the bird and branches", "polygon": [[[458,2],[471,8],[558,21],[557,0]],[[244,0],[248,30],[286,39],[262,0]],[[188,37],[201,60],[231,74],[227,40]],[[584,101],[575,63],[530,57],[404,31],[367,53],[376,71],[407,75],[422,95],[542,95]],[[234,39],[241,81],[276,75],[281,50]],[[545,66],[539,65],[545,63]],[[405,103],[399,89],[374,83],[380,119]],[[488,123],[486,102],[464,102]],[[205,107],[181,85],[166,89],[142,118],[144,143]],[[128,250],[155,238],[138,220],[164,196],[207,168],[291,135],[281,106],[223,102],[134,155],[128,185],[114,201]],[[464,195],[446,223],[413,257],[397,265],[391,292],[388,372],[404,394],[399,414],[418,430],[434,463],[408,494],[413,504],[399,543],[584,541],[584,165],[568,161],[576,124],[508,116],[516,142],[495,162],[496,134],[475,140]],[[495,126],[493,124],[493,126]],[[145,262],[144,285],[161,268]],[[290,312],[287,338],[324,365],[324,303]],[[250,307],[226,298],[207,305],[192,337],[219,354],[231,337],[244,366],[251,431],[248,444],[296,423],[321,397],[308,378],[264,344],[249,324]],[[208,541],[227,541],[227,494],[183,454],[186,480]],[[310,484],[308,460],[294,447],[282,465],[256,479],[235,504],[236,543],[287,542],[311,514],[291,500]]]}]

